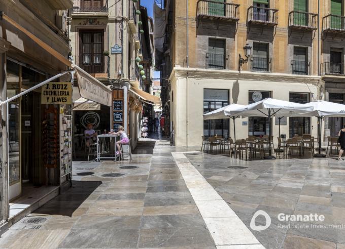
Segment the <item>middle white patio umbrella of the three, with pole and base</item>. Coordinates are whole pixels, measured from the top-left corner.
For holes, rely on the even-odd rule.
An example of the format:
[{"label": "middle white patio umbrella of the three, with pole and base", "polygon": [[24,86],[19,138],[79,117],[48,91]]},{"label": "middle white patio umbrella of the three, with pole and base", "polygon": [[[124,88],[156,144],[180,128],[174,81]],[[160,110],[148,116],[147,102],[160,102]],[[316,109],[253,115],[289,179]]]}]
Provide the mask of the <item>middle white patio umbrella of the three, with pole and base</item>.
[{"label": "middle white patio umbrella of the three, with pole and base", "polygon": [[303,104],[268,98],[246,105],[244,108],[236,109],[233,111],[233,115],[237,114],[243,117],[261,116],[269,118],[269,156],[266,156],[265,159],[275,159],[275,156],[272,156],[271,154],[271,118],[273,116],[287,117],[298,113],[306,113],[312,110],[313,107],[305,106]]}]

